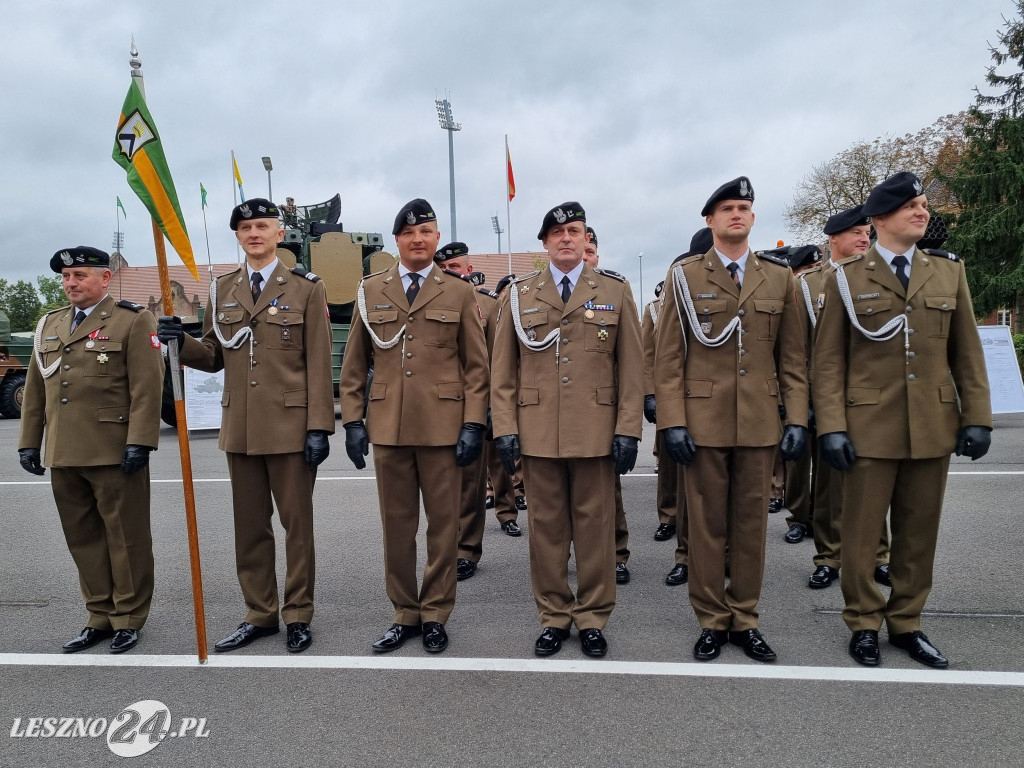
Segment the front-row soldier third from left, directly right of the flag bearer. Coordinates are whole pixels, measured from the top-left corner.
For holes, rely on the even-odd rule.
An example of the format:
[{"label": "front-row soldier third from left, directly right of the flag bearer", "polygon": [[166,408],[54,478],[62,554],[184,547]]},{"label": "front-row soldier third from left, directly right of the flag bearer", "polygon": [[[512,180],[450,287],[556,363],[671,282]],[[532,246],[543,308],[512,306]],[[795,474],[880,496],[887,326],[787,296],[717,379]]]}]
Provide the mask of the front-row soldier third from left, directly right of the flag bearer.
[{"label": "front-row soldier third from left, directly right of the flag bearer", "polygon": [[[473,287],[434,263],[440,232],[430,204],[409,202],[392,233],[398,262],[359,283],[341,368],[341,418],[357,468],[374,444],[394,616],[373,648],[391,651],[422,633],[424,648],[439,653],[455,607],[463,468],[480,456],[486,429],[487,347]],[[417,590],[421,492],[427,563]]]}]

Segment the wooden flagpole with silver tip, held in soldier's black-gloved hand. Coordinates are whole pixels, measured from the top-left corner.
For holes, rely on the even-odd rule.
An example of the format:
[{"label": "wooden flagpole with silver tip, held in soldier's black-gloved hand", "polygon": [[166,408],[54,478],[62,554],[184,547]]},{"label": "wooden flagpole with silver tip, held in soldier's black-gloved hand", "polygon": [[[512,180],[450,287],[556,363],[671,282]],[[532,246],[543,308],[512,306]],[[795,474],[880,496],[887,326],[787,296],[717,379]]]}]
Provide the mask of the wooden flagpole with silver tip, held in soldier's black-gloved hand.
[{"label": "wooden flagpole with silver tip, held in soldier's black-gloved hand", "polygon": [[[135,48],[135,38],[131,41],[131,76],[145,99],[142,81],[142,61]],[[152,217],[151,217],[152,218]],[[171,297],[171,280],[167,271],[167,251],[164,233],[155,218],[153,221],[153,245],[157,251],[157,269],[160,273],[160,293],[164,314],[174,314],[174,299]],[[181,381],[181,364],[178,360],[178,342],[167,344],[168,361],[171,368],[171,385],[174,390],[174,415],[178,427],[178,450],[181,454],[181,484],[185,498],[185,525],[188,529],[188,562],[191,568],[193,608],[196,615],[196,646],[199,663],[206,664],[206,611],[203,607],[203,571],[199,561],[199,527],[196,524],[196,494],[193,487],[191,452],[188,446],[188,423],[185,419],[184,387]]]}]

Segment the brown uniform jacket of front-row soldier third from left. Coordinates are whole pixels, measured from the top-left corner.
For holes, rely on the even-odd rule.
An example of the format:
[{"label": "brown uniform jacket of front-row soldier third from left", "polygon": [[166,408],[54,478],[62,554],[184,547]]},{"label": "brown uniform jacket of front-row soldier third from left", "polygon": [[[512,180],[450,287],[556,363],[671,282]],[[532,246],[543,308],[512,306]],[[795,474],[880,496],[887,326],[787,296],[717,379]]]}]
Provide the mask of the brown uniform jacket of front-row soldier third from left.
[{"label": "brown uniform jacket of front-row soldier third from left", "polygon": [[487,347],[473,286],[436,265],[410,310],[398,263],[362,279],[367,319],[383,341],[406,326],[403,339],[381,349],[358,310],[341,367],[343,423],[362,418],[367,373],[370,441],[379,445],[454,445],[466,422],[487,421]]}]

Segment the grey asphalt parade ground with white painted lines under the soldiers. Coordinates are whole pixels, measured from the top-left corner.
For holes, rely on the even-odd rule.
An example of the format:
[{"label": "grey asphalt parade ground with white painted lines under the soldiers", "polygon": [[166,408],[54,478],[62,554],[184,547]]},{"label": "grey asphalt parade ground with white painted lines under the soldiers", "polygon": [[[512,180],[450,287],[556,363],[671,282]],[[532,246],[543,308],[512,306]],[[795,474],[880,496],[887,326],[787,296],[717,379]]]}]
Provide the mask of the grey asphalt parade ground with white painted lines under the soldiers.
[{"label": "grey asphalt parade ground with white painted lines under the soldiers", "polygon": [[[527,539],[503,535],[493,515],[479,569],[459,584],[449,650],[432,656],[413,641],[373,654],[391,618],[380,517],[372,465],[350,465],[343,435],[316,482],[312,647],[289,654],[282,632],[214,654],[245,609],[224,457],[215,433],[198,432],[190,447],[210,649],[200,666],[168,427],[152,461],[157,592],[141,641],[121,656],[102,644],[61,654],[86,614],[48,477],[17,464],[17,427],[0,419],[0,767],[1024,765],[1024,416],[996,417],[989,456],[950,467],[924,620],[950,659],[946,672],[885,642],[880,668],[856,665],[839,586],[807,588],[814,545],[782,541],[784,512],[769,519],[761,600],[778,662],[759,665],[729,646],[695,663],[699,630],[686,588],[664,583],[674,542],[652,538],[649,426],[636,471],[623,478],[633,580],[618,588],[605,659],[584,656],[574,633],[556,656],[534,655]],[[278,556],[283,580],[283,547]],[[119,713],[152,722],[140,701],[159,702],[151,710],[167,711],[175,735],[117,757],[108,736],[133,716]],[[137,730],[134,746],[122,738],[122,754],[150,743]]]}]

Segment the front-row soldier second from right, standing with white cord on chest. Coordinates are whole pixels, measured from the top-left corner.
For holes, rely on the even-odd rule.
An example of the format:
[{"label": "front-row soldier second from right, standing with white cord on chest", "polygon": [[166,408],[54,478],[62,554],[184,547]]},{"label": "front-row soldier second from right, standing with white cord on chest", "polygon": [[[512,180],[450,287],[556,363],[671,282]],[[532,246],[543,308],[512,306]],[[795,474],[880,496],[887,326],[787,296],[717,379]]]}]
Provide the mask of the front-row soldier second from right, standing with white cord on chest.
[{"label": "front-row soldier second from right, standing with white cord on chest", "polygon": [[757,660],[775,658],[758,631],[772,462],[776,447],[800,456],[807,433],[796,281],[788,264],[751,253],[753,201],[745,176],[708,200],[714,247],[669,271],[654,364],[657,426],[666,452],[686,466],[699,660],[726,640]]}]

